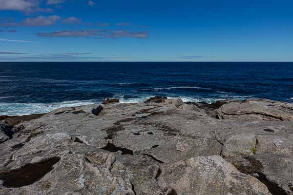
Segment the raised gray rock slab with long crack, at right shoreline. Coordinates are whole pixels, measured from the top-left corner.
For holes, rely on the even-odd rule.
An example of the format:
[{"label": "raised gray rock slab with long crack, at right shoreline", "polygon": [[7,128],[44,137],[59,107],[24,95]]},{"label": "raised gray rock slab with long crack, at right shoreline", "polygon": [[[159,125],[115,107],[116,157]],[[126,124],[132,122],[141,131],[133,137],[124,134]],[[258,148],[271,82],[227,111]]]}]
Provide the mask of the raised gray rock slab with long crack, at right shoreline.
[{"label": "raised gray rock slab with long crack, at right shoreline", "polygon": [[293,104],[267,99],[247,99],[224,104],[217,111],[221,119],[236,120],[293,120]]}]

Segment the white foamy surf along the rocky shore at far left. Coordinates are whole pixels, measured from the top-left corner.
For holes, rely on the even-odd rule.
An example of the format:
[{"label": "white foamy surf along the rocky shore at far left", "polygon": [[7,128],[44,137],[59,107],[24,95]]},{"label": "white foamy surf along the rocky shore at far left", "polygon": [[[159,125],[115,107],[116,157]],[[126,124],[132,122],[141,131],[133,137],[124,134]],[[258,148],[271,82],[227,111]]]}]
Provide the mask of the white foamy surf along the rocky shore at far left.
[{"label": "white foamy surf along the rocky shore at far left", "polygon": [[74,100],[56,103],[0,103],[0,115],[22,116],[48,113],[62,107],[101,103],[96,100]]}]

